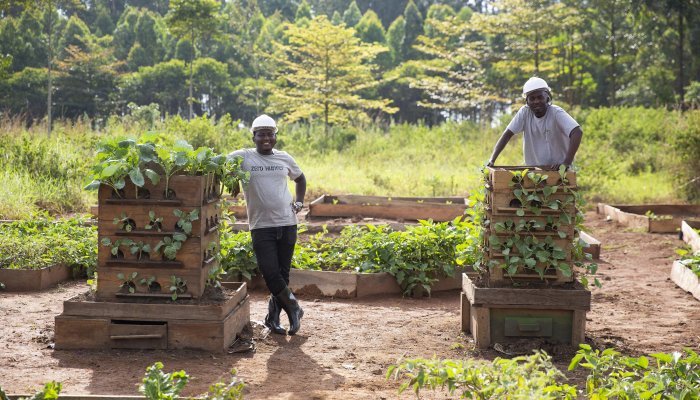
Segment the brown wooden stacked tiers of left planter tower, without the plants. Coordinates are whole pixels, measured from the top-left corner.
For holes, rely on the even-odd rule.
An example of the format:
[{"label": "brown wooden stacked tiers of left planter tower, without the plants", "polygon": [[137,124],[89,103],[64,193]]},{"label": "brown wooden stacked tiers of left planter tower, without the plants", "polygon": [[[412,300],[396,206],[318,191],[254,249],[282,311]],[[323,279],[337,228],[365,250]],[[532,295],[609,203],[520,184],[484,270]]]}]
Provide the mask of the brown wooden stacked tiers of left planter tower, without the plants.
[{"label": "brown wooden stacked tiers of left planter tower, without the plants", "polygon": [[[136,186],[127,181],[123,190],[123,197],[116,197],[112,188],[101,186],[98,193],[98,234],[100,242],[103,238],[109,238],[112,243],[120,239],[131,239],[135,242],[143,242],[150,245],[153,256],[138,259],[137,255],[130,253],[127,246],[119,248],[120,255],[111,254],[110,247],[99,244],[98,249],[98,280],[97,297],[99,299],[115,299],[117,297],[153,297],[168,294],[170,277],[176,276],[183,279],[187,285],[185,297],[199,297],[204,292],[207,275],[215,268],[217,261],[214,255],[219,251],[218,226],[221,220],[219,208],[220,194],[218,183],[213,176],[185,176],[175,175],[170,179],[169,191],[174,192],[174,197],[166,198],[165,183],[161,179],[158,185],[152,185],[147,181],[143,188],[139,189],[140,196],[136,198]],[[116,198],[115,198],[116,197]],[[178,217],[174,210],[191,212],[197,210],[199,219],[192,222],[192,233],[182,243],[174,260],[168,260],[164,256],[156,254],[153,249],[165,237],[172,237],[178,232],[176,223]],[[149,212],[154,212],[156,218],[162,218],[161,231],[145,229],[149,223]],[[122,214],[133,221],[130,231],[121,229],[113,223],[114,218],[120,218]],[[137,273],[135,293],[128,293],[122,288],[122,280],[118,274],[130,276]],[[149,289],[138,285],[138,281],[155,277],[160,290]]]}]

